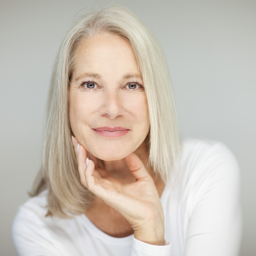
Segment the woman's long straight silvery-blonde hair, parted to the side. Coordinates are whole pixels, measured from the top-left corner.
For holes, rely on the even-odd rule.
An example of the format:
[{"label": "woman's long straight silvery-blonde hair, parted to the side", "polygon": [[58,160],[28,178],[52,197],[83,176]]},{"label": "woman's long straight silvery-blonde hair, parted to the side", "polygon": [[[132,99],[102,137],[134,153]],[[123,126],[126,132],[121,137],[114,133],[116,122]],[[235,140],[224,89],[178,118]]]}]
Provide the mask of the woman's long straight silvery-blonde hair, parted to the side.
[{"label": "woman's long straight silvery-blonde hair, parted to the side", "polygon": [[132,12],[112,5],[91,12],[68,31],[56,58],[48,95],[43,164],[31,195],[48,190],[48,215],[68,218],[82,214],[92,193],[80,183],[69,124],[69,79],[77,44],[99,33],[128,40],[143,77],[150,132],[148,165],[166,183],[178,170],[180,137],[170,76],[161,46],[150,29]]}]

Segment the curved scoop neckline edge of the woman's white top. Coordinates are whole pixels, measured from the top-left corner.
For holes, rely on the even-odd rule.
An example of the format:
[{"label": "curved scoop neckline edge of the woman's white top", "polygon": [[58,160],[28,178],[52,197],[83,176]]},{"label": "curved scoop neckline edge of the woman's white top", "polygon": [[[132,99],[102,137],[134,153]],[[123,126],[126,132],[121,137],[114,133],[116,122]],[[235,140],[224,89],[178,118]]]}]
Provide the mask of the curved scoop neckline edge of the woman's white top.
[{"label": "curved scoop neckline edge of the woman's white top", "polygon": [[[167,193],[167,185],[165,184],[163,192],[160,196],[160,201],[163,205],[164,199],[166,197],[166,193]],[[106,234],[105,232],[103,232],[102,230],[100,230],[97,226],[95,226],[93,224],[93,222],[86,216],[86,214],[81,214],[80,217],[82,219],[82,221],[85,224],[85,227],[88,228],[91,232],[93,232],[93,234],[97,237],[99,237],[100,239],[104,240],[105,242],[108,241],[109,243],[113,243],[113,244],[127,244],[127,243],[131,243],[134,234],[131,234],[129,236],[126,237],[113,237],[110,236],[108,234]]]}]

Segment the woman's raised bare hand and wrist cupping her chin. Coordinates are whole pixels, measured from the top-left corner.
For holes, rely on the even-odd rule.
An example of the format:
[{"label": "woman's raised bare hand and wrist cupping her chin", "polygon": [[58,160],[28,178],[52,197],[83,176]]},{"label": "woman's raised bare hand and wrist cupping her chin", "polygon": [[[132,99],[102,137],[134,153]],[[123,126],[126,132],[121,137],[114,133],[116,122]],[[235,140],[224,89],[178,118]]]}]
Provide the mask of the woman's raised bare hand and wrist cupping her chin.
[{"label": "woman's raised bare hand and wrist cupping her chin", "polygon": [[131,224],[136,239],[164,245],[164,214],[154,180],[135,153],[125,157],[136,182],[122,184],[87,159],[85,148],[74,138],[81,183],[117,210]]}]

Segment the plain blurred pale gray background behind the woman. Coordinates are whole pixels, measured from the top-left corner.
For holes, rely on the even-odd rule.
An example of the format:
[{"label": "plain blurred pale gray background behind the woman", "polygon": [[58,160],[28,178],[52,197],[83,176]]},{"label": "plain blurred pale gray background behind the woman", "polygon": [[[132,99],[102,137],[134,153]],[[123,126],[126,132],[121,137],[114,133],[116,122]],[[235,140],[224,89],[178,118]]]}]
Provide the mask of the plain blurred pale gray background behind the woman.
[{"label": "plain blurred pale gray background behind the woman", "polygon": [[[0,254],[41,163],[54,58],[79,13],[110,1],[0,1]],[[241,255],[256,255],[256,1],[114,1],[159,38],[182,137],[220,140],[241,169]]]}]

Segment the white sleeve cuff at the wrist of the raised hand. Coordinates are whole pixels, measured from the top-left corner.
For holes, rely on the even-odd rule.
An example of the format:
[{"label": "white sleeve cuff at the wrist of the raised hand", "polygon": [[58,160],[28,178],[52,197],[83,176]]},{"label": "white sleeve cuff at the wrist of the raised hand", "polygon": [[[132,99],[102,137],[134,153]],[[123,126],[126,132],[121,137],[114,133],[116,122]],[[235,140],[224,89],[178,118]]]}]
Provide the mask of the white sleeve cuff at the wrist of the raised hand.
[{"label": "white sleeve cuff at the wrist of the raised hand", "polygon": [[165,240],[165,245],[150,245],[133,237],[131,256],[171,256],[171,243]]}]

